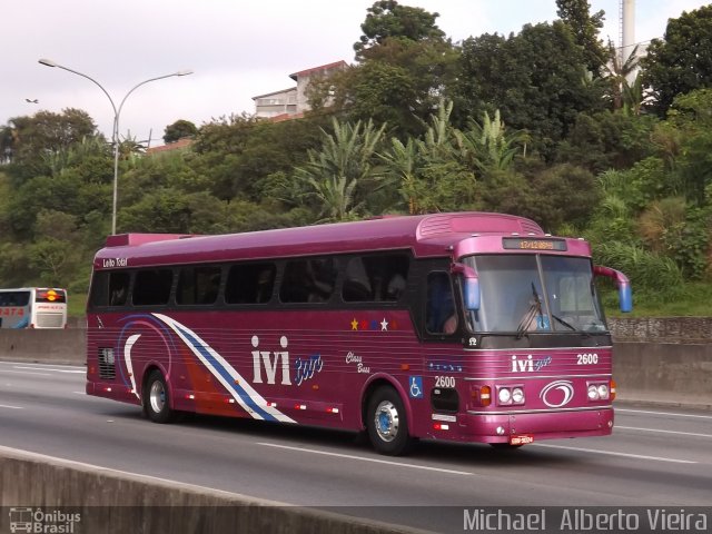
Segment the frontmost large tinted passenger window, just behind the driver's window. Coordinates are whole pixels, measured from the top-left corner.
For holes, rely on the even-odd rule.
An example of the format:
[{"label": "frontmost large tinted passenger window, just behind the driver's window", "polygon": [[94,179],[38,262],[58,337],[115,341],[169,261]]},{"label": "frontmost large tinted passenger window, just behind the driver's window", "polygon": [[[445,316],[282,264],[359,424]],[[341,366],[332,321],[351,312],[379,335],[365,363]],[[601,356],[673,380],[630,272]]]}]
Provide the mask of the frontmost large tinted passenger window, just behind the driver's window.
[{"label": "frontmost large tinted passenger window, just behind the driver's window", "polygon": [[346,303],[396,301],[405,290],[408,257],[403,254],[348,260],[342,287]]}]

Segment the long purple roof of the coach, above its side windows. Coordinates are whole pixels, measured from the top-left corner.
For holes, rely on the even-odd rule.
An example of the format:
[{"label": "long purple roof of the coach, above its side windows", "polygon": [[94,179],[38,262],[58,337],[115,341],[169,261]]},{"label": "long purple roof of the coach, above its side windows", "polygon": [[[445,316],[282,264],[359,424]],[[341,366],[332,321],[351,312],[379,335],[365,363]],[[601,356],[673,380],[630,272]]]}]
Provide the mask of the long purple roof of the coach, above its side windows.
[{"label": "long purple roof of the coach, above its side windows", "polygon": [[490,212],[382,217],[298,228],[189,236],[125,234],[109,236],[95,268],[229,261],[319,254],[409,249],[416,257],[446,256],[449,247],[477,235],[543,236],[524,217]]}]

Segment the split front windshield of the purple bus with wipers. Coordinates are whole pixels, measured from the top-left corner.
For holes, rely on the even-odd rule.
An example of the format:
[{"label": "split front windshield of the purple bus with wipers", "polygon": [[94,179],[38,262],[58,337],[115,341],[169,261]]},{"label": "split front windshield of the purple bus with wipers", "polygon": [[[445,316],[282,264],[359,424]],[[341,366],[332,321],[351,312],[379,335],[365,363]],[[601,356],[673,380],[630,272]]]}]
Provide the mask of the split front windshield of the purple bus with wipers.
[{"label": "split front windshield of the purple bus with wipers", "polygon": [[482,255],[465,258],[479,278],[475,332],[561,333],[606,329],[589,258]]}]

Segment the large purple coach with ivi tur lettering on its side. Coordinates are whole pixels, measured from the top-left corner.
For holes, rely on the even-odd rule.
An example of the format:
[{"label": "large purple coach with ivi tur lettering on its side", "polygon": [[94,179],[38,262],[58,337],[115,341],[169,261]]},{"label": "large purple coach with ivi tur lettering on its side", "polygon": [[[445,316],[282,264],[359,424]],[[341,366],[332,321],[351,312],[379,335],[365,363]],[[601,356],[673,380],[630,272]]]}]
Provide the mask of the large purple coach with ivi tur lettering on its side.
[{"label": "large purple coach with ivi tur lettering on its side", "polygon": [[225,236],[109,236],[87,393],[181,412],[516,447],[613,427],[611,335],[582,239],[456,212]]}]

